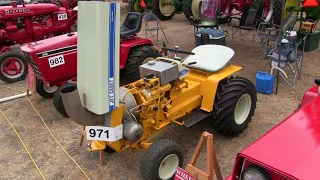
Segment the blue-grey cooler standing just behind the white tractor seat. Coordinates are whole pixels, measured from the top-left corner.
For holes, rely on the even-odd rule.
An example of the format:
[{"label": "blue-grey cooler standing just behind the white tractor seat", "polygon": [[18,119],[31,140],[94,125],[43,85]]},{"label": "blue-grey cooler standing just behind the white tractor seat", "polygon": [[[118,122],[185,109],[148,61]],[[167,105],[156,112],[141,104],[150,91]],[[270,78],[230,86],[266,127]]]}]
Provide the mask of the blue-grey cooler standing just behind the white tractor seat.
[{"label": "blue-grey cooler standing just behind the white tractor seat", "polygon": [[196,46],[205,44],[226,45],[226,37],[222,30],[201,29],[196,33]]}]

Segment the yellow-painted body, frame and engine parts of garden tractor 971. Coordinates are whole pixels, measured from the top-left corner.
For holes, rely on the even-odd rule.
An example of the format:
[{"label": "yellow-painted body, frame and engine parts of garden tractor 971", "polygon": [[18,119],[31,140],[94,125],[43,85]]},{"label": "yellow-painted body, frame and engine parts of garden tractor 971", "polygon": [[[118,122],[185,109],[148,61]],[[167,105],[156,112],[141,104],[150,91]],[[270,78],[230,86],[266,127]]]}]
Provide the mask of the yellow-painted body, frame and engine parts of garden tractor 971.
[{"label": "yellow-painted body, frame and engine parts of garden tractor 971", "polygon": [[[219,72],[204,72],[190,69],[190,74],[183,80],[160,86],[160,79],[140,79],[126,85],[130,96],[137,104],[137,122],[143,127],[143,135],[136,142],[121,139],[116,142],[92,142],[93,150],[101,150],[107,146],[117,152],[127,149],[146,150],[151,140],[171,123],[184,125],[181,117],[197,108],[211,112],[214,105],[216,90],[221,80],[239,71],[241,67],[230,65]],[[128,110],[130,111],[130,110]],[[122,123],[124,105],[112,112],[111,127]],[[157,133],[156,133],[157,132]]]}]

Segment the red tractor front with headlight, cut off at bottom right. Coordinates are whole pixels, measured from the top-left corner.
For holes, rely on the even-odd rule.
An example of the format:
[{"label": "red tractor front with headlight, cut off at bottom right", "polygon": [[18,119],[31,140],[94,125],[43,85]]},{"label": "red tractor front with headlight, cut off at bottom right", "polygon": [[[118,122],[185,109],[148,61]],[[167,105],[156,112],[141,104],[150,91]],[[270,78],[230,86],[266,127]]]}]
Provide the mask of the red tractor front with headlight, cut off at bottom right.
[{"label": "red tractor front with headlight, cut off at bottom right", "polygon": [[238,153],[226,180],[311,180],[320,167],[320,79],[299,108]]}]

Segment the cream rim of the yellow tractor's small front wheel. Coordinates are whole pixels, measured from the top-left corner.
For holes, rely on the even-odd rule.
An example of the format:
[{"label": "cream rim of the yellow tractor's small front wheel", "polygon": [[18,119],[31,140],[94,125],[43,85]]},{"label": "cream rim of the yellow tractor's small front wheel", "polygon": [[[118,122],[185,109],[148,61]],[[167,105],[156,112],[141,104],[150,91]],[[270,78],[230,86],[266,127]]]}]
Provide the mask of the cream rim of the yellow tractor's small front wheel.
[{"label": "cream rim of the yellow tractor's small front wheel", "polygon": [[179,165],[179,157],[176,154],[170,154],[160,164],[159,177],[169,179],[174,175]]}]

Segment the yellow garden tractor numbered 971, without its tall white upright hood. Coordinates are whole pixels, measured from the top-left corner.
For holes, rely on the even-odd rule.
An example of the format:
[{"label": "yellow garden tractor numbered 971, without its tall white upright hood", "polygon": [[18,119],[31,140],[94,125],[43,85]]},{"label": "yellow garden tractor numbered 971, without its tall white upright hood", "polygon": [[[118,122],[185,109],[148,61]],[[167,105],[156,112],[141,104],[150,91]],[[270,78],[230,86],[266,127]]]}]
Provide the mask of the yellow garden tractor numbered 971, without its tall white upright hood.
[{"label": "yellow garden tractor numbered 971, without its tall white upright hood", "polygon": [[[231,76],[241,67],[226,66],[232,49],[202,45],[192,52],[164,50],[190,56],[183,60],[159,57],[141,65],[141,79],[120,87],[119,106],[107,114],[97,115],[83,107],[75,84],[61,91],[69,117],[86,126],[86,137],[93,140],[89,151],[146,150],[141,173],[152,180],[169,179],[183,160],[176,143],[151,143],[157,131],[170,124],[190,127],[206,119],[218,133],[235,136],[247,128],[257,100],[251,81]],[[162,165],[166,163],[167,169]],[[161,166],[164,169],[158,170]]]}]

